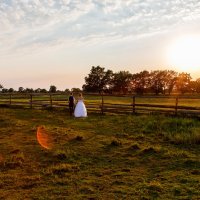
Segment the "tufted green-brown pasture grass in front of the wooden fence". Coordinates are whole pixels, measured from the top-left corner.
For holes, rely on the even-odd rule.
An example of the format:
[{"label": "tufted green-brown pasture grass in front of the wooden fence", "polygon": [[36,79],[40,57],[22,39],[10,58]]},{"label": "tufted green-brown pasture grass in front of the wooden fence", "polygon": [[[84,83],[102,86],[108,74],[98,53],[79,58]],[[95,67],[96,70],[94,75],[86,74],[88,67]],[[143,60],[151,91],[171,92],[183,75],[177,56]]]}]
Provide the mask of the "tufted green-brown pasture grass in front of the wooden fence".
[{"label": "tufted green-brown pasture grass in front of the wooden fence", "polygon": [[1,108],[0,199],[198,199],[199,138],[192,118]]}]

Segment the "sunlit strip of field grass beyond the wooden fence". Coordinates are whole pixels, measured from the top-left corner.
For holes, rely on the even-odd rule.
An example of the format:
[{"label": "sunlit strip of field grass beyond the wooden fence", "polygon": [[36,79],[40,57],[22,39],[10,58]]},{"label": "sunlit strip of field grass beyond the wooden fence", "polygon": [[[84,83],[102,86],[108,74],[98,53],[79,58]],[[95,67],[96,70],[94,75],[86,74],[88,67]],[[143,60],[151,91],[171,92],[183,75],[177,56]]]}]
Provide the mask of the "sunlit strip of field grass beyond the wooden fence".
[{"label": "sunlit strip of field grass beyond the wooden fence", "polygon": [[[38,96],[37,96],[38,95]],[[160,104],[160,105],[172,105],[174,106],[176,104],[176,96],[136,96],[136,103],[145,103],[145,104]],[[190,99],[189,99],[189,98]],[[193,98],[195,97],[195,98]],[[0,102],[1,101],[6,101],[9,103],[10,101],[10,96],[2,94],[0,95]],[[78,94],[75,94],[75,98],[78,99]],[[200,107],[200,101],[199,101],[200,96],[199,95],[188,95],[188,96],[180,96],[179,98],[179,105],[180,106],[193,106],[193,107]],[[86,104],[90,103],[97,103],[101,104],[102,97],[99,95],[85,95],[84,96]],[[129,96],[104,96],[103,97],[105,103],[111,103],[111,104],[132,104],[132,95],[130,94]],[[49,94],[46,95],[39,95],[35,94],[32,96],[33,101],[44,101],[45,103],[49,103],[50,97]],[[68,95],[62,94],[62,95],[52,95],[52,100],[54,102],[62,102],[67,105],[67,100],[68,100]],[[14,94],[12,95],[12,101],[14,102],[30,102],[30,95],[29,94]]]}]

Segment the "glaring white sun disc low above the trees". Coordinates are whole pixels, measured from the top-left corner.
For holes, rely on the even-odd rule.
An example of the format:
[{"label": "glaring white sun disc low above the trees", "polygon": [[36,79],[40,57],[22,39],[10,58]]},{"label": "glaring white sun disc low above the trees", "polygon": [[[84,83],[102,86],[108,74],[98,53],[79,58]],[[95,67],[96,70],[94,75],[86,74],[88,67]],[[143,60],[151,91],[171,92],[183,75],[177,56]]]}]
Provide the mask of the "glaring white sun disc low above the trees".
[{"label": "glaring white sun disc low above the trees", "polygon": [[174,41],[168,48],[168,61],[179,70],[200,70],[200,36],[186,36]]}]

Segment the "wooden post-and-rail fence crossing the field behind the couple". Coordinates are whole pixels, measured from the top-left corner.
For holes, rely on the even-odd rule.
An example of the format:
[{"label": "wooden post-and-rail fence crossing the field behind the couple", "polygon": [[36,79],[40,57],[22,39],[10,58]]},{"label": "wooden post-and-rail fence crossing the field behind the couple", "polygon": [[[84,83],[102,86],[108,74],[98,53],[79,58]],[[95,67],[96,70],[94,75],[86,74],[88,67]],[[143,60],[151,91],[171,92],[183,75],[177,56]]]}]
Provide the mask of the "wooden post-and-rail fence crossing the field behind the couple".
[{"label": "wooden post-and-rail fence crossing the field behind the couple", "polygon": [[[0,106],[68,109],[69,94],[1,93]],[[84,94],[88,112],[136,114],[166,113],[200,116],[200,97]]]}]

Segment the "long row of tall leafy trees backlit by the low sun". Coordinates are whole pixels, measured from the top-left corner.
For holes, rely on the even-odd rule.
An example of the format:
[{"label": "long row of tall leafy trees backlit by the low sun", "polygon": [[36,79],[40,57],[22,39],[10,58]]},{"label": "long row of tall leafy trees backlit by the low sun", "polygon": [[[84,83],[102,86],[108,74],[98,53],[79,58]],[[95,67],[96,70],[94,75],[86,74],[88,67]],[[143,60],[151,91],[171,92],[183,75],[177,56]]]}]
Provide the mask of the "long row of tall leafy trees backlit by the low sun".
[{"label": "long row of tall leafy trees backlit by the low sun", "polygon": [[85,77],[85,92],[171,94],[200,93],[200,78],[193,81],[189,73],[173,70],[141,71],[132,74],[129,71],[105,70],[92,66]]}]

